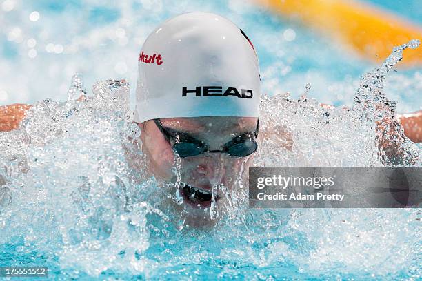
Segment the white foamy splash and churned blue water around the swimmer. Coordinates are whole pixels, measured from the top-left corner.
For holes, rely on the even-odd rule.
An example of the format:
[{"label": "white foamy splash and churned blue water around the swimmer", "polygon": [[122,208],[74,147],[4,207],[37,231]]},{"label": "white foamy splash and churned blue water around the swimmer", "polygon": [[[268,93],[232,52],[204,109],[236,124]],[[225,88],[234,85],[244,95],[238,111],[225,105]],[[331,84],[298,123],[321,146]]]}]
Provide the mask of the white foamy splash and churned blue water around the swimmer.
[{"label": "white foamy splash and churned blue water around the swimmer", "polygon": [[[361,79],[352,108],[305,94],[264,96],[257,166],[421,166],[421,147],[396,121],[385,74],[411,41]],[[196,229],[175,184],[146,174],[129,85],[85,93],[74,76],[67,102],[39,101],[19,129],[0,134],[1,264],[46,264],[63,278],[177,275],[268,279],[419,278],[417,209],[248,209],[247,187],[214,181],[225,204]],[[215,203],[215,202],[214,202]],[[371,275],[372,274],[372,275]]]}]

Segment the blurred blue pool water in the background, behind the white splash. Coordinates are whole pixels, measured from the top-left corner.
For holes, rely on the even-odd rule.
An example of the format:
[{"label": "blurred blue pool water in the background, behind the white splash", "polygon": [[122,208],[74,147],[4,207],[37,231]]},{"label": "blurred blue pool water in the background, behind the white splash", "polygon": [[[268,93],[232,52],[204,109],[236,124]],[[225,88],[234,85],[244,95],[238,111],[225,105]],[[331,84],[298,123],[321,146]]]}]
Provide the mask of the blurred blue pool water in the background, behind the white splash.
[{"label": "blurred blue pool water in the background, behind the white splash", "polygon": [[[421,23],[417,0],[370,1],[414,23]],[[310,96],[332,105],[352,105],[359,77],[374,63],[330,38],[279,19],[249,1],[18,1],[0,9],[0,105],[66,100],[70,79],[83,74],[86,85],[105,79],[137,79],[137,56],[159,23],[181,12],[209,11],[234,21],[256,46],[263,93]],[[35,13],[35,14],[34,14]],[[57,24],[59,23],[59,24]],[[405,43],[405,42],[403,42]],[[399,100],[399,112],[419,110],[421,68],[399,70],[386,91]],[[19,83],[17,83],[19,81]]]}]

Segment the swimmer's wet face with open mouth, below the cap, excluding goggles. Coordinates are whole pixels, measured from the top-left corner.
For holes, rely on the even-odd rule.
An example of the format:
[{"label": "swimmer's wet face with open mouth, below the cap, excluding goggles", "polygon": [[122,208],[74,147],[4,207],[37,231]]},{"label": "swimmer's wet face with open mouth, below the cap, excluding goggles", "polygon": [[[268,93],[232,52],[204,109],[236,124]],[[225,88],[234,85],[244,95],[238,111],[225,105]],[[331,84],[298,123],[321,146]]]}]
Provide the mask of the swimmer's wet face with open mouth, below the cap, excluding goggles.
[{"label": "swimmer's wet face with open mouth, below the cap, excluding goggles", "polygon": [[[255,132],[257,118],[253,117],[195,117],[195,118],[162,118],[161,123],[171,132],[182,132],[203,141],[209,150],[221,150],[223,145],[233,138],[247,132]],[[175,180],[172,172],[174,167],[174,152],[172,145],[165,138],[154,121],[140,124],[143,152],[148,156],[149,169],[154,176],[166,181]],[[184,202],[193,208],[206,208],[210,205],[212,183],[222,183],[232,187],[237,176],[245,167],[252,163],[253,154],[245,157],[230,156],[221,152],[205,152],[197,156],[181,158],[181,181],[188,185],[182,192]],[[244,172],[245,173],[245,172]],[[192,187],[199,189],[200,194]],[[199,200],[190,200],[192,193]]]}]

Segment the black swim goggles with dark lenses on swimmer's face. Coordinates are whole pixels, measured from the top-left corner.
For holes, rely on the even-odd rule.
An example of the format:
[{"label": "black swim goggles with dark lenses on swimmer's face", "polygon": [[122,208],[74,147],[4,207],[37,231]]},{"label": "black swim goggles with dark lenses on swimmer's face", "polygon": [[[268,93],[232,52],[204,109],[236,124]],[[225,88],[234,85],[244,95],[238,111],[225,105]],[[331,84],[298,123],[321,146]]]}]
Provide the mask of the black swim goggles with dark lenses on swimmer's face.
[{"label": "black swim goggles with dark lenses on swimmer's face", "polygon": [[170,128],[163,127],[160,119],[154,119],[155,124],[165,136],[168,143],[172,145],[173,150],[179,154],[181,158],[189,156],[197,156],[205,152],[221,152],[235,157],[245,157],[253,154],[258,149],[256,138],[258,137],[258,124],[255,132],[247,132],[241,134],[225,143],[221,150],[209,150],[208,145],[203,141],[193,138],[189,134],[177,132]]}]

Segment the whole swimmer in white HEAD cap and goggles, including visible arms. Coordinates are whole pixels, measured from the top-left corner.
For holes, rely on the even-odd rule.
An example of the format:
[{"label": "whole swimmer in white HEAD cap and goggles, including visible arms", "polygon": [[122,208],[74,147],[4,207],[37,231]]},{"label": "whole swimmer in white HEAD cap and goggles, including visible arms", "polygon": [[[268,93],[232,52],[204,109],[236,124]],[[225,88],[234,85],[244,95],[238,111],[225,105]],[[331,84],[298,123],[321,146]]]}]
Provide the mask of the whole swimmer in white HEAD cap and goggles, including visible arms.
[{"label": "whole swimmer in white HEAD cap and goggles, including visible arms", "polygon": [[[133,121],[141,129],[148,171],[174,182],[179,157],[184,205],[208,209],[212,185],[232,187],[257,150],[260,76],[254,46],[228,19],[191,12],[156,28],[138,63]],[[0,130],[17,128],[29,107],[0,107]],[[422,112],[399,121],[412,141],[422,141]],[[218,193],[214,199],[224,200]]]}]

